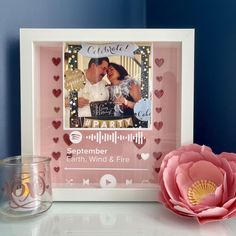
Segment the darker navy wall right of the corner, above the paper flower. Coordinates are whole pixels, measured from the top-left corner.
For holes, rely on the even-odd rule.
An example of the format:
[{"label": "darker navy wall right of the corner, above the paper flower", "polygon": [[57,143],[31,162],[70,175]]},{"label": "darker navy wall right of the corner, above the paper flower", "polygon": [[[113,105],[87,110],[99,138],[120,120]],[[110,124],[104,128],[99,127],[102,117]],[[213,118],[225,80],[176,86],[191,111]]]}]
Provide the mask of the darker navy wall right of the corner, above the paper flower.
[{"label": "darker navy wall right of the corner, above the paper flower", "polygon": [[236,152],[236,1],[147,0],[150,28],[195,28],[194,141]]}]

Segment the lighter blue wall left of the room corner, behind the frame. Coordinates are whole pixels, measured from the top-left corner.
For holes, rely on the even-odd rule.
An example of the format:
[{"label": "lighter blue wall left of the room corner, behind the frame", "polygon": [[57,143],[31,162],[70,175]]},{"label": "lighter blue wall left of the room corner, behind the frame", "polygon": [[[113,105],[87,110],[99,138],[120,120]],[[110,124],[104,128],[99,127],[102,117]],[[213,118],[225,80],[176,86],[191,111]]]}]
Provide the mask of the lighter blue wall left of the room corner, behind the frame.
[{"label": "lighter blue wall left of the room corner, behind the frame", "polygon": [[145,27],[144,0],[1,0],[0,158],[20,153],[20,28]]}]

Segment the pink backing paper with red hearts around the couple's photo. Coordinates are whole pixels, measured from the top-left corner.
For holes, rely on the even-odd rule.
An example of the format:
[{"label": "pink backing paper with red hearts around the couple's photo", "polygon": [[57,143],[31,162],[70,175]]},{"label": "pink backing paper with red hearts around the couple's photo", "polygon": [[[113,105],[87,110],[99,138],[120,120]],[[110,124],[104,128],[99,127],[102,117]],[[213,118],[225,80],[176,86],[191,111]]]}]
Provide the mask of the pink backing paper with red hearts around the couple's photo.
[{"label": "pink backing paper with red hearts around the couple's photo", "polygon": [[[116,187],[148,188],[157,183],[157,175],[163,156],[180,143],[180,88],[181,44],[153,43],[152,64],[152,125],[150,130],[86,130],[79,144],[68,141],[73,130],[63,129],[63,63],[61,47],[40,47],[40,112],[39,154],[52,158],[52,182],[77,184],[81,187],[99,187],[102,176],[113,175]],[[60,58],[55,65],[53,58]],[[55,77],[56,76],[56,77]],[[59,76],[59,79],[58,77]],[[57,95],[53,94],[56,90]],[[55,128],[53,122],[59,122]],[[141,132],[145,137],[142,145],[132,138]],[[93,135],[112,135],[113,141],[91,140]],[[120,139],[125,138],[125,140]],[[90,138],[90,139],[89,139]],[[103,149],[106,154],[79,154],[67,156],[68,148],[79,150]],[[113,161],[109,161],[113,157]],[[78,161],[73,161],[77,158]],[[86,159],[86,161],[84,161]],[[97,161],[92,161],[97,160]],[[72,168],[72,169],[68,169]],[[83,184],[89,180],[89,184]],[[127,180],[128,184],[127,184]]]}]

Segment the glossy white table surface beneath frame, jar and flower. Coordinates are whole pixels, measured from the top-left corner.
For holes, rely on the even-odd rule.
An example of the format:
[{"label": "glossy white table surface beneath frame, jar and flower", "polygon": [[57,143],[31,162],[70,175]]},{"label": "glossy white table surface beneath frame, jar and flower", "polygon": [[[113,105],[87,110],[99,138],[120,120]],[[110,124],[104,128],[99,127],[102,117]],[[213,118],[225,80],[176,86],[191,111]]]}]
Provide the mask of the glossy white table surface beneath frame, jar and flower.
[{"label": "glossy white table surface beneath frame, jar and flower", "polygon": [[21,220],[0,217],[1,236],[236,235],[236,218],[199,225],[158,203],[56,202],[45,213]]}]

